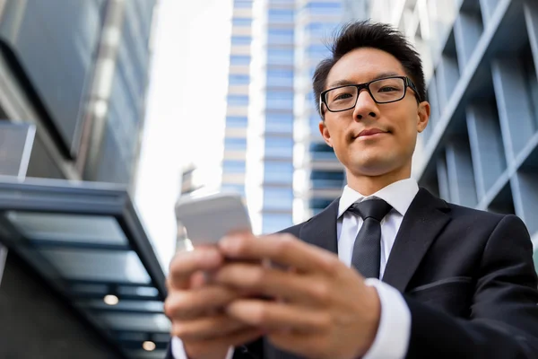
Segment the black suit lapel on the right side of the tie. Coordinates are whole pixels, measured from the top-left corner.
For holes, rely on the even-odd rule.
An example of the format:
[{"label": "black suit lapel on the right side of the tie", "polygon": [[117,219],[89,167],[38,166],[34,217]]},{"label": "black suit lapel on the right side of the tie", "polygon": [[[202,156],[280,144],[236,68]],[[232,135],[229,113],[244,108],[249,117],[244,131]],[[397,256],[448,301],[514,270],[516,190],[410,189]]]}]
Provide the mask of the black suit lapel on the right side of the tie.
[{"label": "black suit lapel on the right side of the tie", "polygon": [[450,220],[447,203],[424,188],[404,215],[386,262],[383,282],[404,293],[422,258]]}]

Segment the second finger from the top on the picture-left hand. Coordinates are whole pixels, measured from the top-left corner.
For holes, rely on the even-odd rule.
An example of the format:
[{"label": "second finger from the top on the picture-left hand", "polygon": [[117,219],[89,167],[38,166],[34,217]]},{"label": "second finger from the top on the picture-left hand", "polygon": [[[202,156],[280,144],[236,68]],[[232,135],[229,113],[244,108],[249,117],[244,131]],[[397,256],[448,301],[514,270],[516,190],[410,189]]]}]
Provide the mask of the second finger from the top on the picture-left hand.
[{"label": "second finger from the top on the picture-left hand", "polygon": [[217,310],[239,297],[221,285],[208,285],[190,291],[172,291],[164,302],[166,315],[174,320],[192,319]]}]

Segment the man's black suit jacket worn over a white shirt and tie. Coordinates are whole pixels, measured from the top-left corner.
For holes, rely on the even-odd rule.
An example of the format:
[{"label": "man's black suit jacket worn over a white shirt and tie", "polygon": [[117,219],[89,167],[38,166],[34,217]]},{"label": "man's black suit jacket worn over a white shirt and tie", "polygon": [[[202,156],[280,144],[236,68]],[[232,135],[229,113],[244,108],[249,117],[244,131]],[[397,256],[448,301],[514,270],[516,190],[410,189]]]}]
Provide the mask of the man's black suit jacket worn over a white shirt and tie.
[{"label": "man's black suit jacket worn over a white shirt and tie", "polygon": [[[290,232],[337,252],[339,201]],[[383,282],[412,318],[407,358],[538,358],[533,246],[515,215],[447,204],[421,188],[404,215]],[[234,359],[292,359],[261,338]]]}]

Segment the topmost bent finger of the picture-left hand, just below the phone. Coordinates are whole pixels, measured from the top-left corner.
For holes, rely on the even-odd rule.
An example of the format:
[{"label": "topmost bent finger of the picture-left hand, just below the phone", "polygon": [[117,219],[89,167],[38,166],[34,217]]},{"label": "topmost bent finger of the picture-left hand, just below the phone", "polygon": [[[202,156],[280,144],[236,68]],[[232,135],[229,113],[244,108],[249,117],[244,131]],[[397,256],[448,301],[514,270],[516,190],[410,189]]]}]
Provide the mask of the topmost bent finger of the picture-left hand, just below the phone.
[{"label": "topmost bent finger of the picture-left hand, just below the phone", "polygon": [[210,271],[221,265],[222,255],[216,247],[199,247],[192,251],[179,252],[171,261],[167,285],[186,289],[190,276],[196,271]]}]

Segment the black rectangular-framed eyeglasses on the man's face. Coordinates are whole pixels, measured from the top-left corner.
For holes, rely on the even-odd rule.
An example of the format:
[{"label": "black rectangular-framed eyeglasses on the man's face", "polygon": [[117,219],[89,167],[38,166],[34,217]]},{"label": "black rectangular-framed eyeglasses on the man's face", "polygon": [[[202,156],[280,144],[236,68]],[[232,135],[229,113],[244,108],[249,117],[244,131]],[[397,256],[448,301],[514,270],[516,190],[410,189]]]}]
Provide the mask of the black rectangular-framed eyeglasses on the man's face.
[{"label": "black rectangular-framed eyeglasses on the man's face", "polygon": [[407,88],[411,87],[417,101],[420,102],[419,92],[407,76],[385,77],[369,83],[350,84],[334,87],[321,92],[320,102],[325,103],[331,112],[353,109],[357,105],[359,93],[366,89],[376,103],[390,103],[404,99]]}]

